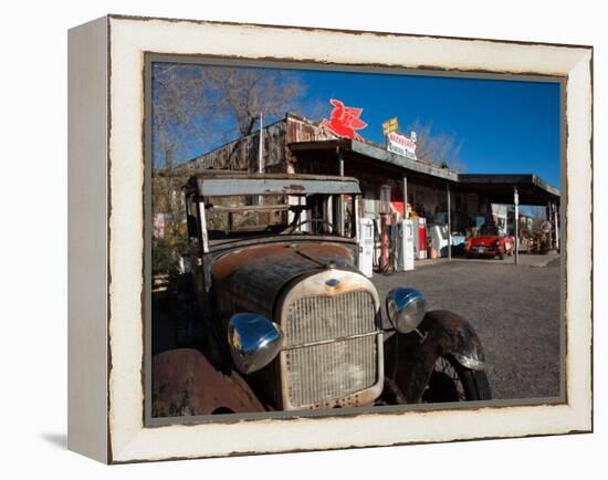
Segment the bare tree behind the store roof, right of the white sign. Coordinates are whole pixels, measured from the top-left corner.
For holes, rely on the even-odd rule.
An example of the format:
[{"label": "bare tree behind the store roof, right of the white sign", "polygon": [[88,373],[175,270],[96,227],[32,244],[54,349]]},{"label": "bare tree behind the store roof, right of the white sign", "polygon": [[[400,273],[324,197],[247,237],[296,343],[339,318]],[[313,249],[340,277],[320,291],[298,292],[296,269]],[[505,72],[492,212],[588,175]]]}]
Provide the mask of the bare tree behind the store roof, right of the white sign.
[{"label": "bare tree behind the store roof, right of the white sign", "polygon": [[432,124],[422,124],[419,121],[409,125],[408,131],[416,132],[416,156],[418,159],[442,168],[464,170],[464,164],[459,157],[462,142],[458,143],[455,135],[445,132],[433,135]]}]

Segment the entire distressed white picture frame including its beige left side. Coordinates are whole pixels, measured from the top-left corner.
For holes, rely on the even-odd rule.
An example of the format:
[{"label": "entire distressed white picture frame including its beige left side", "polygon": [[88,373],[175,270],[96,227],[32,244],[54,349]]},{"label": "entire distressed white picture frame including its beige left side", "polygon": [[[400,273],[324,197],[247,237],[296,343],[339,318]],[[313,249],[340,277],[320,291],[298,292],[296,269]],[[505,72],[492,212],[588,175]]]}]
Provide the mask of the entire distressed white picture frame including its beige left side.
[{"label": "entire distressed white picture frame including its beige left side", "polygon": [[[593,429],[593,49],[107,15],[70,31],[69,448],[106,463]],[[145,426],[145,53],[566,79],[566,401]]]}]

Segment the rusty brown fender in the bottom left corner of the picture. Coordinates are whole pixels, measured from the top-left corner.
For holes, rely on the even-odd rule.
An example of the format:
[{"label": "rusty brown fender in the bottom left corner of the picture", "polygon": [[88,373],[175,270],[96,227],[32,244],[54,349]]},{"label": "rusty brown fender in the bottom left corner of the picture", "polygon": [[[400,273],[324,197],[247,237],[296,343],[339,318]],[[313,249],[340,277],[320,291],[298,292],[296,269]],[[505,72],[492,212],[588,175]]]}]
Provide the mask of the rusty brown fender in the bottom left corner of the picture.
[{"label": "rusty brown fender in the bottom left corner of the picture", "polygon": [[195,348],[166,351],[153,358],[153,417],[264,410],[237,372],[223,375]]}]

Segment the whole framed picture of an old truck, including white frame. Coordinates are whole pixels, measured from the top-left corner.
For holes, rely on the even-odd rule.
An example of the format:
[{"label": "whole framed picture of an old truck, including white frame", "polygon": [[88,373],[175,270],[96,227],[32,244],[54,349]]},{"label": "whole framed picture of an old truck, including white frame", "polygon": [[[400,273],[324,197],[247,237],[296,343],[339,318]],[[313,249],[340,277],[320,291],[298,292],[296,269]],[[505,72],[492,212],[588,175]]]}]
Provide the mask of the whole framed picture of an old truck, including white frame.
[{"label": "whole framed picture of an old truck, including white frame", "polygon": [[69,61],[72,450],[591,431],[590,46],[108,15]]}]

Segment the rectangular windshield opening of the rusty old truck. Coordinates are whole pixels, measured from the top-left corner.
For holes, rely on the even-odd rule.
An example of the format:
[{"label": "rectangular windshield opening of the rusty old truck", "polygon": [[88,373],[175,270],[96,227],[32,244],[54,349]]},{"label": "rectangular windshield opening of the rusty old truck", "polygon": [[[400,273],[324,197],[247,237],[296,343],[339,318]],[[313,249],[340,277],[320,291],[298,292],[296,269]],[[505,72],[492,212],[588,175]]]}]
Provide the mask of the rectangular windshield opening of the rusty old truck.
[{"label": "rectangular windshield opening of the rusty old truck", "polygon": [[339,195],[206,197],[210,243],[279,234],[353,238],[354,198]]}]

